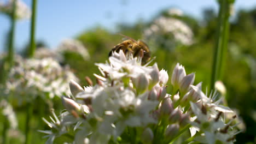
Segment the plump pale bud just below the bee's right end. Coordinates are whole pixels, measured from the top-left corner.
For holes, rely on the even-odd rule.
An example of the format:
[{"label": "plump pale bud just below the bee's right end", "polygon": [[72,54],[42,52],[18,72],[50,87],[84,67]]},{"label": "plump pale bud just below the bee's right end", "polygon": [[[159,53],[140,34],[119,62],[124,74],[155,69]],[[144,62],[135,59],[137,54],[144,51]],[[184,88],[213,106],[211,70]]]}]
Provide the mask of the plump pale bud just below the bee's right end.
[{"label": "plump pale bud just below the bee's right end", "polygon": [[138,93],[143,93],[148,89],[149,80],[146,75],[140,74],[137,79],[132,79]]}]

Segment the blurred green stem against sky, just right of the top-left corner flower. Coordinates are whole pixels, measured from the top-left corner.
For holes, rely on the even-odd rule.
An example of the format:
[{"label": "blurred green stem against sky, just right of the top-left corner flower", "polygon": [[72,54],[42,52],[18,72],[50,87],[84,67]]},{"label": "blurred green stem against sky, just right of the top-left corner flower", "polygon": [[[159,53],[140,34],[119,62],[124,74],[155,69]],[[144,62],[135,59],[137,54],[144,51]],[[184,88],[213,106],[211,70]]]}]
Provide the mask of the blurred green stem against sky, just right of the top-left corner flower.
[{"label": "blurred green stem against sky, just right of the top-left corner flower", "polygon": [[31,17],[31,29],[30,29],[30,49],[28,51],[28,57],[32,58],[36,51],[36,15],[37,15],[37,0],[33,0],[32,3],[32,17]]}]

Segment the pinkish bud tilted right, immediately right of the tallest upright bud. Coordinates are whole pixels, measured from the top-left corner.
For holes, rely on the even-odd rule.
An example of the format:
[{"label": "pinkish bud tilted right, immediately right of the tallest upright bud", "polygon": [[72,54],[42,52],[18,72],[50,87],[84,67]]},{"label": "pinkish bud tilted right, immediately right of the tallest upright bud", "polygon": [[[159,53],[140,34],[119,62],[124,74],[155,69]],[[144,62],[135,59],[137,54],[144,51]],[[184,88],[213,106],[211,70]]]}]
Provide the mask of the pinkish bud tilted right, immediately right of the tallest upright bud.
[{"label": "pinkish bud tilted right, immediately right of the tallest upright bud", "polygon": [[179,91],[181,94],[185,94],[189,91],[190,85],[193,85],[195,80],[195,73],[191,73],[183,77],[181,83],[179,84]]}]

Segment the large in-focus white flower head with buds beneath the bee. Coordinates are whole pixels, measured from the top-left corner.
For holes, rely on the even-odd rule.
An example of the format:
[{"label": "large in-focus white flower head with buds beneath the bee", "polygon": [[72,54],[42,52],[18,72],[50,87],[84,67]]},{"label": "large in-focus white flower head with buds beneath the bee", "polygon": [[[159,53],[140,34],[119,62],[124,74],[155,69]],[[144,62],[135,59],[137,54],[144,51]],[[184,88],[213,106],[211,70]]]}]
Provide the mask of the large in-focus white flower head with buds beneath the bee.
[{"label": "large in-focus white flower head with buds beneath the bee", "polygon": [[[51,130],[48,143],[57,137],[73,137],[75,143],[233,143],[236,113],[219,105],[216,94],[207,97],[195,74],[182,65],[173,70],[172,93],[167,93],[168,74],[152,62],[141,65],[141,57],[113,52],[106,63],[97,63],[101,75],[96,85],[82,88],[69,82],[72,95],[62,97],[59,117],[43,120]],[[231,118],[229,116],[232,116]],[[190,131],[191,136],[188,134]]]}]

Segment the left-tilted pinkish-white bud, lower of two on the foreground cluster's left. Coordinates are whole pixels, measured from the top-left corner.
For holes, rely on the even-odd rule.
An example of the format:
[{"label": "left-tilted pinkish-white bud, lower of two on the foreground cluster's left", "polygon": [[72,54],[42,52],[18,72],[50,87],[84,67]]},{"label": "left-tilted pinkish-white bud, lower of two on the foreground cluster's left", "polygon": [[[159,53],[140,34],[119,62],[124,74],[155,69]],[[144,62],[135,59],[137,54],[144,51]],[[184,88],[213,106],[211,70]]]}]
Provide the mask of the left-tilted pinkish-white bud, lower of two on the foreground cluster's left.
[{"label": "left-tilted pinkish-white bud, lower of two on the foreground cluster's left", "polygon": [[63,106],[71,113],[74,117],[79,117],[80,106],[73,100],[67,97],[61,97]]}]

